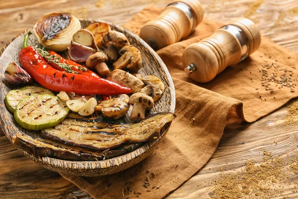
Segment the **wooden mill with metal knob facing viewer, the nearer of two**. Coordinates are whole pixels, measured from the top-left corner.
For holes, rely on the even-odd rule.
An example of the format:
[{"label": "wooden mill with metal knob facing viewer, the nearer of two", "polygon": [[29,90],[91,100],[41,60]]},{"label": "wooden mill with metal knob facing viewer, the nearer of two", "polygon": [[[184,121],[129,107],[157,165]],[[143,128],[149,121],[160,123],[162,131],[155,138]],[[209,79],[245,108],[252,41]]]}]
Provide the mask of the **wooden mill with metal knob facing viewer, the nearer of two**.
[{"label": "wooden mill with metal knob facing viewer, the nearer of two", "polygon": [[210,37],[185,48],[184,71],[196,82],[209,82],[227,66],[244,60],[260,44],[260,31],[254,22],[247,18],[232,21]]}]

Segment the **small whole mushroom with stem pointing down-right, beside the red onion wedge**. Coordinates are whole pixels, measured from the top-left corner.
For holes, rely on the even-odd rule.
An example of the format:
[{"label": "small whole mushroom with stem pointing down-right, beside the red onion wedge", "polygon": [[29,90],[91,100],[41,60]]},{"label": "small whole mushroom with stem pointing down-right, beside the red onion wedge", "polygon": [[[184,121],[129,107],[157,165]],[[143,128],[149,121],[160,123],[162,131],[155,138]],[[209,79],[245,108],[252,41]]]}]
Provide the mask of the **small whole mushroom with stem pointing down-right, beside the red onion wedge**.
[{"label": "small whole mushroom with stem pointing down-right, beside the red onion wedge", "polygon": [[103,52],[96,52],[90,55],[86,60],[86,67],[97,71],[100,76],[107,76],[110,73],[109,67],[105,61],[108,61],[108,56]]}]

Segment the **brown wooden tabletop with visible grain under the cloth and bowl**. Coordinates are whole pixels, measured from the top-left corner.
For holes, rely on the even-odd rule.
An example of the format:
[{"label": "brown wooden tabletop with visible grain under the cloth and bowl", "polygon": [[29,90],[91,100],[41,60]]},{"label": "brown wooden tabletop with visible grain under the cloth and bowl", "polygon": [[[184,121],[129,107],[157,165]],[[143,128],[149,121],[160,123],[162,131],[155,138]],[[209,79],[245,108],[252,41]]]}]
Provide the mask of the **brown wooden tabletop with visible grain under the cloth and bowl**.
[{"label": "brown wooden tabletop with visible grain under the cloth and bowl", "polygon": [[[171,0],[0,0],[0,48],[48,12],[69,11],[77,17],[100,18],[122,25],[146,5],[165,6]],[[228,22],[245,16],[263,35],[298,52],[298,0],[201,0],[208,19]],[[255,123],[230,123],[208,164],[168,199],[206,199],[220,168],[241,169],[244,160],[262,159],[264,149],[275,155],[298,154],[298,130],[287,125],[288,106]],[[296,140],[296,141],[295,141]],[[293,180],[293,179],[292,179]],[[281,187],[276,198],[298,198],[294,186]],[[0,131],[0,198],[90,198],[58,173],[24,157]]]}]

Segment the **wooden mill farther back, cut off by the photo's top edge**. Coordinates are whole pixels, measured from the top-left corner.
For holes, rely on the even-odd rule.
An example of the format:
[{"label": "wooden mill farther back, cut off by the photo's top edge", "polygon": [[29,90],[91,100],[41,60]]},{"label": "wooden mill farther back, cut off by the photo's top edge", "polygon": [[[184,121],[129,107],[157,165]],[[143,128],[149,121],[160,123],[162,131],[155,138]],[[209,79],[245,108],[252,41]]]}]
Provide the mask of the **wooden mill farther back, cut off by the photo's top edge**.
[{"label": "wooden mill farther back, cut off by the photo's top edge", "polygon": [[154,50],[163,48],[193,32],[203,15],[199,0],[175,0],[144,25],[140,37]]}]

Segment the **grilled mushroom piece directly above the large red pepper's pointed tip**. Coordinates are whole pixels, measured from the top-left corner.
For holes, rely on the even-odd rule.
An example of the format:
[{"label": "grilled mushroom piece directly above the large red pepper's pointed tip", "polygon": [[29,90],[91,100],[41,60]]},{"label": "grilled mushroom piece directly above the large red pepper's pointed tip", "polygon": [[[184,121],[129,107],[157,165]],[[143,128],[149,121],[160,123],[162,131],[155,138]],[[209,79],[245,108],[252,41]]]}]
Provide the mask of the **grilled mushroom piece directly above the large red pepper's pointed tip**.
[{"label": "grilled mushroom piece directly above the large red pepper's pointed tip", "polygon": [[120,69],[116,69],[109,73],[107,79],[122,86],[131,88],[133,94],[137,93],[144,87],[144,83],[139,78]]}]

